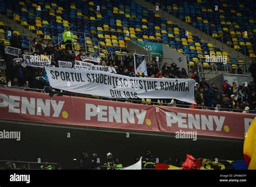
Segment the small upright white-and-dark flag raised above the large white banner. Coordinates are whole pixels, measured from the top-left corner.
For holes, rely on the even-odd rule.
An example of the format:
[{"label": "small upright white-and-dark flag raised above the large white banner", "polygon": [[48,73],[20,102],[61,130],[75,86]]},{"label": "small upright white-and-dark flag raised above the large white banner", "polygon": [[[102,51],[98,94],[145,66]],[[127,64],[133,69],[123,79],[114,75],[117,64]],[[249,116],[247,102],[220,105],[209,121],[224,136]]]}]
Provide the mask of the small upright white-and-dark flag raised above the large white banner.
[{"label": "small upright white-and-dark flag raised above the large white banner", "polygon": [[147,66],[146,66],[145,56],[133,53],[133,57],[134,57],[135,75],[147,76]]}]

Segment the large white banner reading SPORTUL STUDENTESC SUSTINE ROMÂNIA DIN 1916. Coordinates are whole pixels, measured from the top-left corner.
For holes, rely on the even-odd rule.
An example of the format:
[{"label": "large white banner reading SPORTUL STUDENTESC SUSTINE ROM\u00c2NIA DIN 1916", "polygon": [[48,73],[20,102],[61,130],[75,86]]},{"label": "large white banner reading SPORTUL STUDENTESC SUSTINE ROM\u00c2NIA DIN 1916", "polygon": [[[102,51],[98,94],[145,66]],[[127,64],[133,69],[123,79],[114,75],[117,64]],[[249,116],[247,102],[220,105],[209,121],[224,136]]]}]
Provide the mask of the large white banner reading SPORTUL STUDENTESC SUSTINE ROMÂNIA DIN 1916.
[{"label": "large white banner reading SPORTUL STUDENTESC SUSTINE ROM\u00c2NIA DIN 1916", "polygon": [[174,98],[194,103],[193,79],[128,77],[86,69],[45,70],[51,87],[60,90],[110,98]]}]

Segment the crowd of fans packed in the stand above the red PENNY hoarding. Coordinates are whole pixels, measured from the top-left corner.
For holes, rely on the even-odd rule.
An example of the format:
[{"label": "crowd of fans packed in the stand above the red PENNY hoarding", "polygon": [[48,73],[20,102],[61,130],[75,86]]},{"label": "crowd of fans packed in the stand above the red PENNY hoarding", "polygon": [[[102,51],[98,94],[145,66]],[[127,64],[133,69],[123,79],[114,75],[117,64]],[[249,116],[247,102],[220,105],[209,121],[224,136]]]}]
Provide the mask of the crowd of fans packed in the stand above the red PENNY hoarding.
[{"label": "crowd of fans packed in the stand above the red PENNY hoarding", "polygon": [[[14,34],[10,41],[11,47],[21,48],[21,41],[17,34]],[[31,44],[33,50],[32,54],[28,52],[28,49],[23,49],[19,57],[22,58],[23,54],[47,55],[49,56],[51,64],[55,67],[58,67],[58,61],[70,61],[72,64],[75,64],[75,60],[81,60],[80,56],[91,56],[90,53],[85,54],[82,50],[76,55],[75,52],[70,50],[70,47],[59,49],[58,46],[52,46],[52,44],[46,43],[44,39],[38,40],[35,38]],[[44,89],[50,86],[44,68],[24,67],[19,61],[14,63],[14,56],[5,54],[3,43],[0,43],[0,59],[4,59],[6,63],[6,74],[0,77],[0,84],[35,89]],[[111,57],[102,59],[99,65],[114,67],[117,74],[120,75],[136,76],[134,74],[133,56],[126,56],[125,59],[122,59],[120,55],[117,55],[114,59]],[[198,66],[198,64],[195,64],[192,68],[192,75],[188,76],[186,69],[178,67],[176,63],[169,64],[165,62],[161,68],[158,67],[158,63],[154,60],[152,60],[151,63],[147,63],[147,77],[193,78],[196,81],[194,96],[197,104],[180,102],[172,98],[160,99],[161,104],[205,110],[231,111],[237,109],[237,112],[256,110],[255,62],[253,62],[250,67],[254,82],[241,83],[239,85],[236,82],[229,84],[227,81],[224,81],[222,88],[217,88],[215,84],[211,84],[211,86],[208,85],[205,78],[201,78],[200,81],[197,71],[199,68],[196,66]],[[141,99],[137,99],[137,103],[140,102]],[[158,99],[151,99],[151,104],[158,104]]]}]

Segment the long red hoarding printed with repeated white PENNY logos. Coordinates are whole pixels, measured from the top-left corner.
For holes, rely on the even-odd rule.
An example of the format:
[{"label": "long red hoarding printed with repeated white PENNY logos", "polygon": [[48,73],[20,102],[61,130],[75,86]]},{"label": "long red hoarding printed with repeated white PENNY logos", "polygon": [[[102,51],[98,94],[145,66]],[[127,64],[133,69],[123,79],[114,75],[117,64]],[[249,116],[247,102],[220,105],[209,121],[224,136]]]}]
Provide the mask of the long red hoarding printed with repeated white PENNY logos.
[{"label": "long red hoarding printed with repeated white PENNY logos", "polygon": [[5,120],[244,139],[255,116],[0,89],[0,119]]}]

